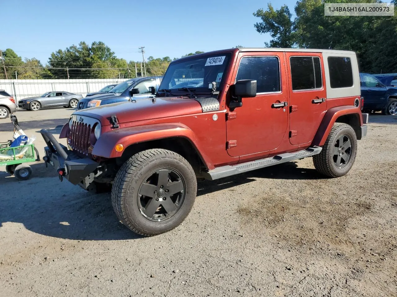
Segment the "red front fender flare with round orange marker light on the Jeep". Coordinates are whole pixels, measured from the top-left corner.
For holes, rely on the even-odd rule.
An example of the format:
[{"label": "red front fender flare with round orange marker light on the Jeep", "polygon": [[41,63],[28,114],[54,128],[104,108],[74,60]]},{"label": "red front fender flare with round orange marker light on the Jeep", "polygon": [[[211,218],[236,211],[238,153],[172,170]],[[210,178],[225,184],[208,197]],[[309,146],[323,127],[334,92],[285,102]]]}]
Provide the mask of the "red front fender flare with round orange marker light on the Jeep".
[{"label": "red front fender flare with round orange marker light on the Jeep", "polygon": [[[130,145],[170,137],[184,137],[189,140],[203,164],[208,169],[214,169],[214,165],[210,162],[208,156],[204,154],[204,149],[200,146],[195,133],[189,127],[180,123],[135,126],[106,132],[96,141],[92,154],[104,158],[117,158],[121,157],[124,150]],[[119,143],[124,147],[121,152],[115,149],[115,146]]]}]

